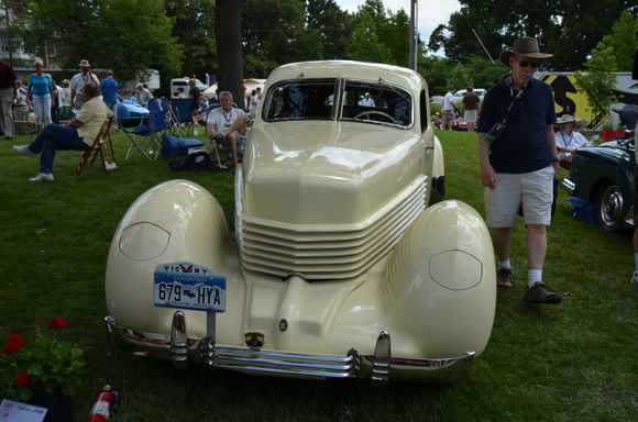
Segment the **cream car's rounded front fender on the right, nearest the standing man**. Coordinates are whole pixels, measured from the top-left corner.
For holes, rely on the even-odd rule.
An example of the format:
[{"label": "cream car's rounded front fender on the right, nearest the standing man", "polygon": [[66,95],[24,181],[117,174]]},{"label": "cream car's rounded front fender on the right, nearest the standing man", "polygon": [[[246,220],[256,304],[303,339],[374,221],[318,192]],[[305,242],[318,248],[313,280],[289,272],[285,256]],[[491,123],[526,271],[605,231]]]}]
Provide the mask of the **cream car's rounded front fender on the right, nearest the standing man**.
[{"label": "cream car's rounded front fender on the right, nearest the standing man", "polygon": [[[424,354],[480,354],[492,332],[496,268],[490,232],[472,207],[447,200],[429,207],[388,258],[386,303]],[[443,349],[444,347],[444,349]]]}]

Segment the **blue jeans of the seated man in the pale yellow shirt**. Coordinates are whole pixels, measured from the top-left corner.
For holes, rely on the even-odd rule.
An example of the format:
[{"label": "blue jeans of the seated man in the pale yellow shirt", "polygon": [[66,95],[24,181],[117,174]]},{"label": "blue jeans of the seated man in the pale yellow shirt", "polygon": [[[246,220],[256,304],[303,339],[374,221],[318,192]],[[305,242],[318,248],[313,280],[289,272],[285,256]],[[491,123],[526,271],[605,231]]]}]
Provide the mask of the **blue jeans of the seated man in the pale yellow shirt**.
[{"label": "blue jeans of the seated man in the pale yellow shirt", "polygon": [[40,135],[29,144],[29,149],[32,153],[40,154],[40,173],[44,174],[53,173],[56,151],[87,151],[88,148],[89,146],[78,136],[76,129],[54,123],[47,124],[40,132]]}]

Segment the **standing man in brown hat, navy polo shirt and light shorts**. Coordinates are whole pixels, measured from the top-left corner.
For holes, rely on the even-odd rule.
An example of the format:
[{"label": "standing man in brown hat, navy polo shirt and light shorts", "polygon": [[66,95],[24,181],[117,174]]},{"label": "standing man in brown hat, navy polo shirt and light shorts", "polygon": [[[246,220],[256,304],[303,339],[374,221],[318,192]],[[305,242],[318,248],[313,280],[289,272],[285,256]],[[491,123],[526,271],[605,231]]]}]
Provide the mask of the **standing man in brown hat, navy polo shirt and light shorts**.
[{"label": "standing man in brown hat, navy polo shirt and light shorts", "polygon": [[522,300],[560,303],[562,297],[542,278],[546,229],[551,222],[552,184],[559,162],[552,124],[556,111],[549,85],[532,78],[540,60],[538,41],[524,37],[501,53],[510,74],[490,89],[479,122],[481,182],[487,225],[498,258],[498,286],[512,287],[512,227],[522,203],[527,227],[528,281]]}]

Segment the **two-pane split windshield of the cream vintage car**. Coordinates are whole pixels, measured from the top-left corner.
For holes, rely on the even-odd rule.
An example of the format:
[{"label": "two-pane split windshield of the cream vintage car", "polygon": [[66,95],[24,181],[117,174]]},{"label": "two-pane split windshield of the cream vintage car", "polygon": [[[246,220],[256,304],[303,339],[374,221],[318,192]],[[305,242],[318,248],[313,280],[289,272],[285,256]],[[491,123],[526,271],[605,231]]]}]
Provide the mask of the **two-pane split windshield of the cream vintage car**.
[{"label": "two-pane split windshield of the cream vintage car", "polygon": [[[341,101],[339,99],[341,93]],[[377,82],[339,79],[285,80],[271,87],[264,120],[343,120],[410,126],[409,93],[383,79]]]}]

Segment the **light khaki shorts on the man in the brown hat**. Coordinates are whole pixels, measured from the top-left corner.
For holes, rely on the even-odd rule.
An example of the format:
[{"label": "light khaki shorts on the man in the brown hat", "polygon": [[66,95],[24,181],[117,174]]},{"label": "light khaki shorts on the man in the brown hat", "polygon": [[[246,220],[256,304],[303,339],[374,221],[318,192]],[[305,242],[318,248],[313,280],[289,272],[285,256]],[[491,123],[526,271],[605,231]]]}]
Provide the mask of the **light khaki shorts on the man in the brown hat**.
[{"label": "light khaki shorts on the man in the brown hat", "polygon": [[553,167],[512,175],[497,173],[496,188],[485,188],[485,211],[490,227],[514,227],[522,202],[525,224],[549,225],[553,199]]}]

